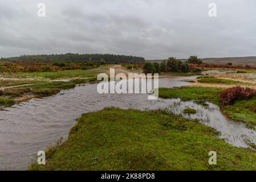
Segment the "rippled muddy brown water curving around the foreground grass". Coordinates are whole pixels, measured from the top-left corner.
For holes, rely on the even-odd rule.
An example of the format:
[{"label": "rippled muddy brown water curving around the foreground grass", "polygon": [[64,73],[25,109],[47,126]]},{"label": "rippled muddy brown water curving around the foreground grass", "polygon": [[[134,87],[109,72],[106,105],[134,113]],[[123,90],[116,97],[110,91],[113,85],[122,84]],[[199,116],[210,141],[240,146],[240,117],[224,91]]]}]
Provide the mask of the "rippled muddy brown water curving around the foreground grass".
[{"label": "rippled muddy brown water curving around the foreground grass", "polygon": [[[160,78],[160,87],[171,88],[190,84],[183,80],[192,77]],[[220,131],[220,138],[237,147],[247,147],[246,139],[256,143],[256,133],[243,123],[233,122],[220,112],[218,106],[197,105],[179,99],[148,100],[147,94],[99,94],[97,84],[76,86],[52,97],[32,99],[0,111],[0,170],[25,170],[40,150],[46,150],[58,138],[67,138],[68,131],[81,114],[104,107],[121,109],[165,109],[183,114],[185,107],[194,107],[197,114],[183,114],[198,118],[205,125]]]}]

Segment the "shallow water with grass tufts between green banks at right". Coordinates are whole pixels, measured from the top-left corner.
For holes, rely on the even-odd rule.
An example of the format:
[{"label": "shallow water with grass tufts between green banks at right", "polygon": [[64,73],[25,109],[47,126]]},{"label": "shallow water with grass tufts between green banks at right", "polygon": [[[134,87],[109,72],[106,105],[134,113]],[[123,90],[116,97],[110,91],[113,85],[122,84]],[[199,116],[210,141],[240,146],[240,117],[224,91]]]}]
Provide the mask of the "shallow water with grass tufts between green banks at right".
[{"label": "shallow water with grass tufts between green banks at right", "polygon": [[[220,132],[220,137],[226,142],[237,147],[248,147],[250,141],[256,143],[256,131],[248,129],[244,123],[232,121],[221,113],[220,108],[210,102],[208,106],[196,104],[194,101],[181,101],[177,99],[158,100],[151,105],[150,109],[167,109],[170,113],[182,115],[187,119],[199,119],[207,126],[213,127]],[[192,108],[196,114],[186,114],[184,110]]]}]

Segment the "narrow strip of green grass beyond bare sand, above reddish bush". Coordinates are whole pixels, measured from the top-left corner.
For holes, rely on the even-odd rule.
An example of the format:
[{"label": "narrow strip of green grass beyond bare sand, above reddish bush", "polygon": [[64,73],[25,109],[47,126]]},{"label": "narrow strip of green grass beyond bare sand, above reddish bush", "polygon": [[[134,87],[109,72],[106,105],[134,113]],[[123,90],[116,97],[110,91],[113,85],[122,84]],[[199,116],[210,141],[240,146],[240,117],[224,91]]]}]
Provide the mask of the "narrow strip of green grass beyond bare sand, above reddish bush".
[{"label": "narrow strip of green grass beyond bare sand, above reddish bush", "polygon": [[213,76],[204,76],[198,77],[198,82],[200,83],[207,83],[207,84],[225,84],[225,85],[255,85],[249,82],[242,82],[242,81],[234,81],[234,80],[226,80],[222,78],[216,78]]}]

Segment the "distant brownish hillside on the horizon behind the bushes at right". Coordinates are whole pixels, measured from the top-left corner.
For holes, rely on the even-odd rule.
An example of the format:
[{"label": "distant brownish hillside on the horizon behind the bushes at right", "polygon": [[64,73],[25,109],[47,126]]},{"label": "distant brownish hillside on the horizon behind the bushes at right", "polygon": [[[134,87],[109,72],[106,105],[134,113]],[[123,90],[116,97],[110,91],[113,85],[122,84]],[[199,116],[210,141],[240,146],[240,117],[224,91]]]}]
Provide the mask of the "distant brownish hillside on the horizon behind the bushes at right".
[{"label": "distant brownish hillside on the horizon behind the bushes at right", "polygon": [[[187,59],[181,59],[186,61]],[[162,60],[147,60],[150,62],[160,63]],[[256,66],[256,56],[250,57],[221,57],[221,58],[204,58],[202,59],[204,63],[208,64],[227,64],[233,63],[233,65],[252,65]]]}]

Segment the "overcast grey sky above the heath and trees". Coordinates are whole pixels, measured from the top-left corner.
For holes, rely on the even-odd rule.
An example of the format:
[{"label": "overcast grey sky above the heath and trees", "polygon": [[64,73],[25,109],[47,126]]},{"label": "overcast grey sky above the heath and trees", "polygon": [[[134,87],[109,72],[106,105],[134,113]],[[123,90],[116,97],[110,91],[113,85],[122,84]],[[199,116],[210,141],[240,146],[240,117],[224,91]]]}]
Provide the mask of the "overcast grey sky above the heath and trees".
[{"label": "overcast grey sky above the heath and trees", "polygon": [[[46,17],[38,17],[38,3]],[[216,3],[217,17],[208,15]],[[255,0],[0,2],[0,57],[51,53],[256,56]]]}]

